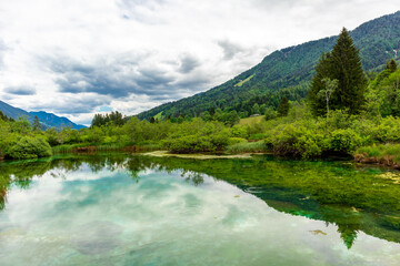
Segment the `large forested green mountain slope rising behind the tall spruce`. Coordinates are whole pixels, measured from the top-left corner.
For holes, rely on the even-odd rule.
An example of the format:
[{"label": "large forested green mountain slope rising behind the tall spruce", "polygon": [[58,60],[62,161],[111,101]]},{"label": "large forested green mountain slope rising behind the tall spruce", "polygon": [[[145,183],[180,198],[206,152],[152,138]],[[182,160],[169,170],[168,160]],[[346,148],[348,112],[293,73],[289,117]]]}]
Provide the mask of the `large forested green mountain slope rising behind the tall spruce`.
[{"label": "large forested green mountain slope rising behind the tall spruce", "polygon": [[[400,57],[400,11],[366,22],[350,34],[360,49],[364,70],[374,70],[387,60]],[[249,111],[253,103],[276,106],[282,94],[289,100],[301,99],[307,94],[318,59],[332,49],[336,39],[329,37],[274,51],[258,65],[219,86],[162,104],[138,117],[194,116],[211,108]]]}]

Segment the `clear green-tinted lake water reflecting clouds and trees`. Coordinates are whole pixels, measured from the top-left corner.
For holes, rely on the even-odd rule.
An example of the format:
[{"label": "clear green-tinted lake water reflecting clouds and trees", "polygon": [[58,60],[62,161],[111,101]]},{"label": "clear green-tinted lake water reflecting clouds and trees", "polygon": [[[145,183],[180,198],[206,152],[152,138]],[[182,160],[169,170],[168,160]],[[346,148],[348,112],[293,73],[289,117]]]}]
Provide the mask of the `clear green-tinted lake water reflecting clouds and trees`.
[{"label": "clear green-tinted lake water reflecting clouds and trees", "polygon": [[397,172],[68,155],[0,164],[0,265],[400,265]]}]

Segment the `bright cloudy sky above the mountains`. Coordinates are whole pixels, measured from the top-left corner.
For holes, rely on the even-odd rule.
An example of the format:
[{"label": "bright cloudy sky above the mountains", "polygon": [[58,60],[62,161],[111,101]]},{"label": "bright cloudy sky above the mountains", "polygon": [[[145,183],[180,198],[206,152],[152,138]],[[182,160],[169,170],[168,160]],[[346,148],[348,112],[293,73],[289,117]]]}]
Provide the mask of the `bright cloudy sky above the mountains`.
[{"label": "bright cloudy sky above the mountains", "polygon": [[0,100],[90,124],[207,91],[398,0],[1,0]]}]

